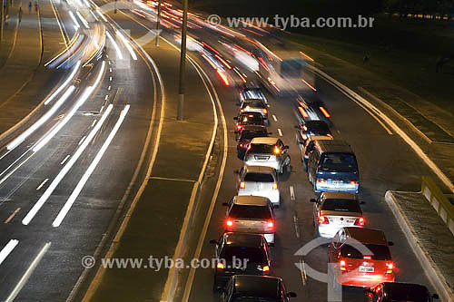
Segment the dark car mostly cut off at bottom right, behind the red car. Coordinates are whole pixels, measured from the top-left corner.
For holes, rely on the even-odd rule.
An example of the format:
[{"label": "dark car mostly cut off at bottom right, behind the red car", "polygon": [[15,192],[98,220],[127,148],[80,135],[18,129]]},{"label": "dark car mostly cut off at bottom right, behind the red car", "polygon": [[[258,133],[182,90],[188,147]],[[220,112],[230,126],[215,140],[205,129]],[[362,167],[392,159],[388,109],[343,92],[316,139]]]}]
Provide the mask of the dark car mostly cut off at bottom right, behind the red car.
[{"label": "dark car mostly cut off at bottom right, behind the red car", "polygon": [[427,287],[419,284],[383,282],[376,287],[366,289],[368,302],[431,302],[439,295],[430,295]]}]

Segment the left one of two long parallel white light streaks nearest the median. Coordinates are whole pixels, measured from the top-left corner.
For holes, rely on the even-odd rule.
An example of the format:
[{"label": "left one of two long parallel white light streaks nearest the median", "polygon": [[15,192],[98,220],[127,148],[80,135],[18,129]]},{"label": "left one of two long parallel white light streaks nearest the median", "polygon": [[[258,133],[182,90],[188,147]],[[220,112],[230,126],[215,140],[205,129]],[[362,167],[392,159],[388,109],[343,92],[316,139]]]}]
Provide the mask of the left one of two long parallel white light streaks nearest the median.
[{"label": "left one of two long parallel white light streaks nearest the median", "polygon": [[22,223],[25,226],[28,225],[30,223],[30,221],[35,217],[38,210],[41,209],[41,207],[43,207],[44,202],[47,201],[47,199],[49,199],[49,197],[52,195],[52,193],[54,192],[55,188],[58,186],[60,181],[63,180],[66,173],[73,167],[75,161],[77,161],[79,159],[79,157],[82,155],[82,153],[84,152],[84,150],[86,149],[86,147],[88,146],[90,141],[93,140],[94,135],[96,135],[96,133],[103,126],[104,121],[107,119],[107,116],[112,111],[113,107],[114,106],[112,104],[109,105],[107,110],[104,112],[101,120],[99,120],[99,122],[94,126],[94,129],[92,130],[92,132],[90,132],[90,134],[88,134],[88,136],[87,136],[86,140],[83,142],[83,144],[77,149],[77,151],[75,151],[74,156],[64,165],[64,168],[62,170],[60,170],[60,172],[57,174],[57,176],[54,178],[54,180],[52,180],[52,182],[51,182],[50,186],[47,188],[47,190],[44,191],[43,196],[41,196],[41,198],[38,201],[36,201],[33,208],[30,209],[30,211],[26,214],[25,218],[22,219]]}]

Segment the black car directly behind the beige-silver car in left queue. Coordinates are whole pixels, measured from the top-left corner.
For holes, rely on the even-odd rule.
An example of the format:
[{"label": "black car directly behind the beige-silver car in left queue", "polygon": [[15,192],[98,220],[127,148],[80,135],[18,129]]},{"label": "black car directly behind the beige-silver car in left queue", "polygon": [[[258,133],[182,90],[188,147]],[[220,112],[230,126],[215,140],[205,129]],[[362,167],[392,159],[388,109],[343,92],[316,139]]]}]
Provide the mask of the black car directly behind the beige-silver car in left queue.
[{"label": "black car directly behind the beige-silver car in left queue", "polygon": [[233,275],[270,275],[270,248],[261,234],[226,232],[215,244],[213,290],[225,287]]}]

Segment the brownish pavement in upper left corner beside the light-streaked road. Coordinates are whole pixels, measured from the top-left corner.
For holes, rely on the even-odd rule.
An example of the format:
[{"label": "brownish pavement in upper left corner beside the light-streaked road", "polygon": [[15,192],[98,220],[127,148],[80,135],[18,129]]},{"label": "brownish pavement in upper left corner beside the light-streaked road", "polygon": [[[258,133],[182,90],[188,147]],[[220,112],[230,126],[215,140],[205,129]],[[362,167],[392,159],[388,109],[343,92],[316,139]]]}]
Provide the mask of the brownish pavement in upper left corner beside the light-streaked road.
[{"label": "brownish pavement in upper left corner beside the light-streaked road", "polygon": [[64,41],[49,0],[39,5],[38,15],[35,8],[29,13],[23,2],[15,47],[0,69],[0,137],[35,110],[61,75],[43,66],[64,47]]}]

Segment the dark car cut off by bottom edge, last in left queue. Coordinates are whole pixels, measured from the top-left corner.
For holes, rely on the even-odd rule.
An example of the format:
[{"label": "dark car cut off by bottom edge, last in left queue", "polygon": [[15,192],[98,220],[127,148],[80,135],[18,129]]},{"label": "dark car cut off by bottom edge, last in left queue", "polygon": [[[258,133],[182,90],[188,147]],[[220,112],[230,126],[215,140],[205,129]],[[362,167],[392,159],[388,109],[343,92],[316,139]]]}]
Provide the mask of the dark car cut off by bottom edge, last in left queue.
[{"label": "dark car cut off by bottom edge, last in left queue", "polygon": [[287,302],[296,297],[287,292],[281,278],[252,275],[232,276],[222,294],[223,301],[276,301]]}]

